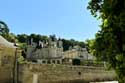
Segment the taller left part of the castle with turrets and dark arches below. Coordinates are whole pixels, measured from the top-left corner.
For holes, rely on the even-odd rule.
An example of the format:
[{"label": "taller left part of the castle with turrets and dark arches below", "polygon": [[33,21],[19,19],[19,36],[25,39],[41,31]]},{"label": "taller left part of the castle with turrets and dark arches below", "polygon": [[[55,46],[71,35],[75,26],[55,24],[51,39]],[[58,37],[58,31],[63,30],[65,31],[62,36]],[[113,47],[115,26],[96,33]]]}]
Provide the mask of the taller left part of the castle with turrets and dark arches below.
[{"label": "taller left part of the castle with turrets and dark arches below", "polygon": [[31,43],[27,47],[27,59],[36,60],[38,63],[62,63],[62,41]]}]

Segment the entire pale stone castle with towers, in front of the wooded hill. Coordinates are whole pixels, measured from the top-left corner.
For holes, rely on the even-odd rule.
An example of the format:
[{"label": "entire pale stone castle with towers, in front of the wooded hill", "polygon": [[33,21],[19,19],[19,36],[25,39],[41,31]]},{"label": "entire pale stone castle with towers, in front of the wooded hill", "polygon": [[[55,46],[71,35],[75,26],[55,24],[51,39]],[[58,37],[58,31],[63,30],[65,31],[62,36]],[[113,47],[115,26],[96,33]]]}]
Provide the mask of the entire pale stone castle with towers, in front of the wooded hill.
[{"label": "entire pale stone castle with towers, in front of the wooded hill", "polygon": [[48,41],[39,41],[38,44],[31,39],[31,43],[27,46],[26,58],[41,64],[72,64],[75,59],[81,61],[95,59],[86,48],[80,46],[70,47],[69,50],[63,51],[63,42],[51,37]]}]

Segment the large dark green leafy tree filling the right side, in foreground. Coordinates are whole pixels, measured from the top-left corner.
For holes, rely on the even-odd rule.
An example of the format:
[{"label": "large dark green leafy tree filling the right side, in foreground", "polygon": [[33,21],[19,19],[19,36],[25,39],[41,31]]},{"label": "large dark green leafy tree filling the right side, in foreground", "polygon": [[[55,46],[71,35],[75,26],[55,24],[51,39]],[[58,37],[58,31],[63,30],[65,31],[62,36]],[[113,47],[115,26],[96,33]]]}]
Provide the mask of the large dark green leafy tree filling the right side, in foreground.
[{"label": "large dark green leafy tree filling the right side, in foreground", "polygon": [[90,0],[91,14],[102,20],[96,33],[95,55],[104,56],[125,83],[125,0]]}]

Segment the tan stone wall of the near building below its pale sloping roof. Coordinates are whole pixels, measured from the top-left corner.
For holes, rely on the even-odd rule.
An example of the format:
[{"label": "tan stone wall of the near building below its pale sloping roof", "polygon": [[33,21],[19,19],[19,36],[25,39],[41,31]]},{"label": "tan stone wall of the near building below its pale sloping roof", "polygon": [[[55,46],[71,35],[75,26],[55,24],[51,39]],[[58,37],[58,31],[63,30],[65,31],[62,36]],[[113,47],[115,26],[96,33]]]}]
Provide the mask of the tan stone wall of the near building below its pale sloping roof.
[{"label": "tan stone wall of the near building below its pale sloping roof", "polygon": [[0,83],[11,83],[13,79],[15,49],[0,47]]}]

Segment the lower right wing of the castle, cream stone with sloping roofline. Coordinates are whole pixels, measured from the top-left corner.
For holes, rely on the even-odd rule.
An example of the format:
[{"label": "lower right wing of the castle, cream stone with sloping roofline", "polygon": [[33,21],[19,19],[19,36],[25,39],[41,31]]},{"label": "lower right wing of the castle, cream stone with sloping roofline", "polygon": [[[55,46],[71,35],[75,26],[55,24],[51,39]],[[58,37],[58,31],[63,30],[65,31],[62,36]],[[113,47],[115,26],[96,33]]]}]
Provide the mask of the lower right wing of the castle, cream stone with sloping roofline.
[{"label": "lower right wing of the castle, cream stone with sloping roofline", "polygon": [[73,59],[79,59],[81,61],[95,60],[95,57],[89,54],[86,48],[81,48],[80,46],[70,47],[68,51],[63,53],[63,57],[66,64],[72,64]]}]

